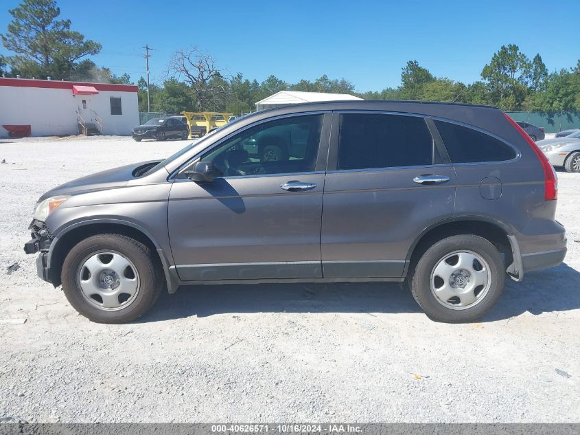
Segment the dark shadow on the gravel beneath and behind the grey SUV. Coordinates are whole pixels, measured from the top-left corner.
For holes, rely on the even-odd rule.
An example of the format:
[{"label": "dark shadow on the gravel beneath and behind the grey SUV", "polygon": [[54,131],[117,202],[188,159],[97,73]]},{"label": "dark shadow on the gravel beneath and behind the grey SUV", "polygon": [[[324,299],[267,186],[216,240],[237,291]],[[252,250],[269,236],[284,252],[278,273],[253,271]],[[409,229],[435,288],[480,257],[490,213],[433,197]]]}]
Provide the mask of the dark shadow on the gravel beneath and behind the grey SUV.
[{"label": "dark shadow on the gravel beneath and behind the grey SUV", "polygon": [[[506,281],[496,306],[479,322],[580,309],[580,272],[565,263]],[[137,322],[224,313],[421,313],[410,291],[392,282],[183,286],[163,293]]]}]

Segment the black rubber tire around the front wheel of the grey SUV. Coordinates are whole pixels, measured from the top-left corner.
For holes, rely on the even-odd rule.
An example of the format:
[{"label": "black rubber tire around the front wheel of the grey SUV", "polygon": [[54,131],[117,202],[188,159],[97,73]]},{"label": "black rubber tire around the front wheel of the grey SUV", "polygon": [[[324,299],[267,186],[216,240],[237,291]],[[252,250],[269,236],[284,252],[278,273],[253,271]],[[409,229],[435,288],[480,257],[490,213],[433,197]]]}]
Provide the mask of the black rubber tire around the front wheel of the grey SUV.
[{"label": "black rubber tire around the front wheel of the grey SUV", "polygon": [[[117,311],[103,311],[86,300],[77,277],[82,262],[102,251],[117,252],[135,265],[139,276],[139,290],[134,300]],[[131,322],[146,313],[163,290],[163,276],[153,253],[143,243],[121,234],[97,234],[75,245],[62,265],[62,290],[76,311],[97,323],[119,324]]]}]

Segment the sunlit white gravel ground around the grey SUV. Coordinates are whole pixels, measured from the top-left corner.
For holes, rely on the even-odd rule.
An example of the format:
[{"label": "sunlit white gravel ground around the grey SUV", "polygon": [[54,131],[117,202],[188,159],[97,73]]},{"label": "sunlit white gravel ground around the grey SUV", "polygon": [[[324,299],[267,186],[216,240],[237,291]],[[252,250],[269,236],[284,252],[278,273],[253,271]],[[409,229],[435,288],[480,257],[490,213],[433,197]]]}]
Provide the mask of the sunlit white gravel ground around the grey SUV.
[{"label": "sunlit white gravel ground around the grey SUV", "polygon": [[182,287],[134,324],[77,315],[23,252],[36,199],[185,143],[0,142],[0,320],[26,319],[0,323],[0,417],[580,421],[580,175],[559,172],[565,264],[508,280],[478,323],[430,322],[409,293],[385,284]]}]

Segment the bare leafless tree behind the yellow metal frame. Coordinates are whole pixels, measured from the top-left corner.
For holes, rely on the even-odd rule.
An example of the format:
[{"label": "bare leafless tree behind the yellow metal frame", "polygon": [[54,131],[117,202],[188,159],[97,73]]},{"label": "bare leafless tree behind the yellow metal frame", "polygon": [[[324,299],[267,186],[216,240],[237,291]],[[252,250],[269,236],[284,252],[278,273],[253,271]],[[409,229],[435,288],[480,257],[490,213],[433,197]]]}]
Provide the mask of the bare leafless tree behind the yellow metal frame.
[{"label": "bare leafless tree behind the yellow metal frame", "polygon": [[167,69],[167,77],[185,80],[196,98],[198,110],[224,110],[229,82],[216,59],[198,47],[175,52]]}]

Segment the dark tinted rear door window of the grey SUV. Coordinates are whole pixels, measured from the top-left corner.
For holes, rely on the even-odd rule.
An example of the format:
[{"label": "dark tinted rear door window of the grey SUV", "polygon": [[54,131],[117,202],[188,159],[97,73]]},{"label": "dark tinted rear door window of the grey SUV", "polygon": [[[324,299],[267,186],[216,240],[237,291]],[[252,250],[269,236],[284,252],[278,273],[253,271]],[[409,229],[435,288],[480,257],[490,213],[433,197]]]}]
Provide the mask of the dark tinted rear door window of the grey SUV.
[{"label": "dark tinted rear door window of the grey SUV", "polygon": [[438,160],[423,118],[381,113],[340,115],[338,169],[426,166]]}]

